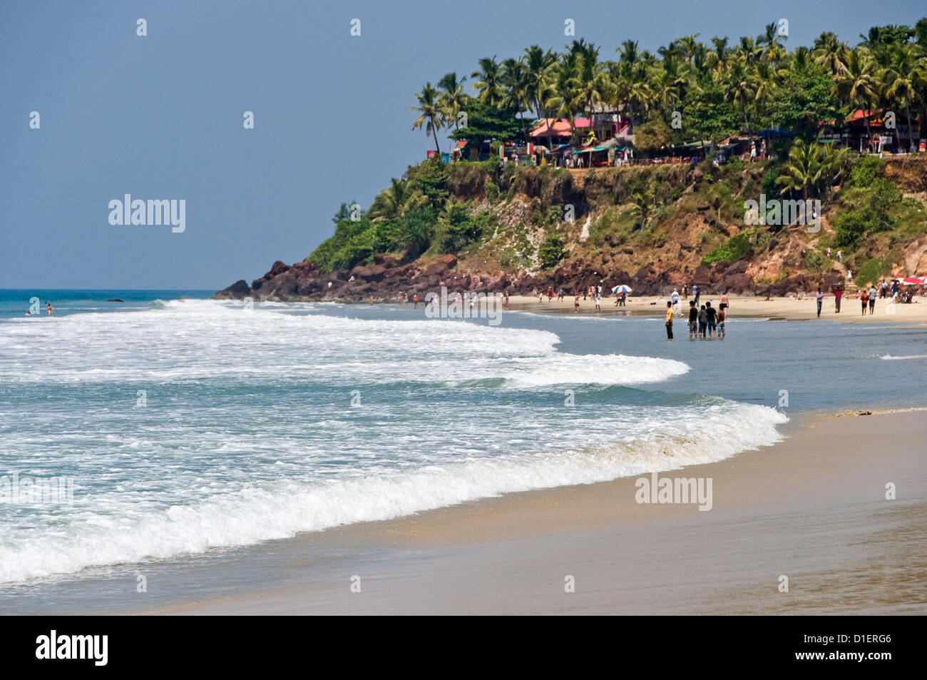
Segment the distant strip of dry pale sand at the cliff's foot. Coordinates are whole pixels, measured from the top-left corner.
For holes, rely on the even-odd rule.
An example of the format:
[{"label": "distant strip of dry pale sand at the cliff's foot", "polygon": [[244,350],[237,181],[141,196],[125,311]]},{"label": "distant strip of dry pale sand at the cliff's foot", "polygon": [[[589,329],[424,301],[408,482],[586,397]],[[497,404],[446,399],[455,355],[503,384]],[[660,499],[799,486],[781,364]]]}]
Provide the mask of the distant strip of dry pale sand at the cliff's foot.
[{"label": "distant strip of dry pale sand at the cliff's foot", "polygon": [[[703,295],[699,301],[700,304],[705,301],[711,301],[712,305],[717,307],[720,301],[720,295]],[[794,298],[772,298],[767,301],[761,297],[749,297],[743,295],[729,295],[730,310],[728,320],[736,319],[738,316],[748,318],[773,318],[784,319],[786,321],[809,321],[818,318],[818,308],[811,296],[807,300],[795,300]],[[680,298],[679,306],[683,314],[688,314],[689,301]],[[887,299],[877,300],[874,314],[861,314],[861,304],[858,300],[844,297],[841,303],[841,311],[837,314],[834,311],[833,295],[828,294],[824,297],[824,303],[821,306],[821,319],[832,321],[841,321],[848,323],[927,323],[927,298],[915,298],[910,304],[895,304],[894,309],[886,304]],[[509,298],[509,308],[512,310],[522,310],[525,312],[551,313],[551,312],[568,312],[573,313],[573,297],[567,296],[563,302],[557,302],[554,296],[552,302],[548,302],[545,296],[544,302],[538,302],[537,298],[527,295],[513,295]],[[666,296],[645,296],[629,297],[627,305],[618,307],[615,304],[615,298],[605,297],[602,299],[602,310],[595,312],[595,304],[590,298],[583,300],[579,298],[578,314],[666,314],[667,297]]]}]

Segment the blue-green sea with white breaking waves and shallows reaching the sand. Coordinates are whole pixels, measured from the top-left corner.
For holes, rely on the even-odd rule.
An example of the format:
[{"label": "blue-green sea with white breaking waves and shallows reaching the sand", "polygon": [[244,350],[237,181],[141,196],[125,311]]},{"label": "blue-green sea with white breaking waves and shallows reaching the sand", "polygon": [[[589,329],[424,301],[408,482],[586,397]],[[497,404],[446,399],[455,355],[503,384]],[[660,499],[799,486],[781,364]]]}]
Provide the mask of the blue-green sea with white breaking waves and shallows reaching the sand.
[{"label": "blue-green sea with white breaking waves and shallows reaching the sand", "polygon": [[[159,604],[238,592],[266,581],[231,564],[301,532],[687,468],[794,414],[927,396],[921,326],[735,303],[726,340],[677,324],[670,343],[656,316],[491,326],[210,294],[0,291],[0,611],[129,609],[139,572]],[[25,315],[33,297],[55,313]],[[67,493],[37,498],[43,481]]]}]

